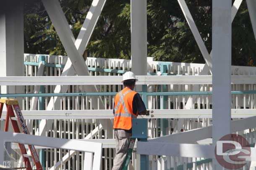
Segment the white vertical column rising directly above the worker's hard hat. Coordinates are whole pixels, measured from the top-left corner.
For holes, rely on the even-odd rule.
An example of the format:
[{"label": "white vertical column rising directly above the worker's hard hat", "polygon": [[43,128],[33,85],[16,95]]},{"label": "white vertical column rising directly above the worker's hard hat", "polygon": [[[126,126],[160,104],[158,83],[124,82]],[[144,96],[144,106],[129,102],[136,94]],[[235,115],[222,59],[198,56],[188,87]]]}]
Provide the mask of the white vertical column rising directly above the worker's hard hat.
[{"label": "white vertical column rising directly above the worker's hard hat", "polygon": [[136,76],[147,74],[146,0],[131,0],[131,62]]}]

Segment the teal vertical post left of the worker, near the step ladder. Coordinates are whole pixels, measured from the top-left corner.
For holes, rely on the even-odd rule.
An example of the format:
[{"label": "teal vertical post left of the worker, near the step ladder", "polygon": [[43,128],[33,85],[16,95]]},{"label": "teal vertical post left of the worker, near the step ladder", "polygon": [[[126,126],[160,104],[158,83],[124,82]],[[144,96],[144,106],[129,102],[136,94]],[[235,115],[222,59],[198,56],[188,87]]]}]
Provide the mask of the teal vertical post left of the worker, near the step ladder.
[{"label": "teal vertical post left of the worker, near the step ladder", "polygon": [[[45,63],[45,56],[41,56],[41,55],[39,56],[39,62],[41,62],[41,61]],[[40,86],[39,93],[45,93],[44,86]],[[39,97],[39,110],[44,110],[44,106],[45,106],[44,97]],[[41,121],[39,120],[39,124],[40,124],[40,122]],[[39,159],[40,159],[43,170],[45,170],[45,164],[44,164],[44,162],[45,162],[45,152],[44,152],[44,149],[40,150]]]}]

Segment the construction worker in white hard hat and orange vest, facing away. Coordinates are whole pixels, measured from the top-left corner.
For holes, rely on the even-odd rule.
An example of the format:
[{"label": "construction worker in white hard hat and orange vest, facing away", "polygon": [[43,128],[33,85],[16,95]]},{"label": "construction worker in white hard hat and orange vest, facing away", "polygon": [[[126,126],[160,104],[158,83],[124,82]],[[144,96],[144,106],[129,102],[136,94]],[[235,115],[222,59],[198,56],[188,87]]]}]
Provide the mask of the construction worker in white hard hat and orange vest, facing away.
[{"label": "construction worker in white hard hat and orange vest, facing away", "polygon": [[112,170],[121,170],[128,145],[132,136],[132,119],[138,115],[146,115],[146,107],[141,96],[133,91],[136,81],[133,72],[128,71],[123,75],[123,90],[115,96],[113,113],[116,141],[116,155]]}]

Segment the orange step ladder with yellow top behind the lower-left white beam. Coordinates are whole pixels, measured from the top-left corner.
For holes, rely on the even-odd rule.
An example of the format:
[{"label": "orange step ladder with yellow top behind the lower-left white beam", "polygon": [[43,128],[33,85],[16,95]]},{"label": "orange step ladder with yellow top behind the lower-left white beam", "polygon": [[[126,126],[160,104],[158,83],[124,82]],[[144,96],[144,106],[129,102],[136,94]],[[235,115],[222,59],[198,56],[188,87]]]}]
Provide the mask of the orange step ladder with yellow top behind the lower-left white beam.
[{"label": "orange step ladder with yellow top behind the lower-left white beam", "polygon": [[[24,117],[23,117],[23,115],[21,113],[21,109],[20,109],[20,107],[18,105],[18,101],[14,100],[14,99],[0,99],[0,118],[2,116],[2,111],[3,111],[3,105],[4,104],[7,107],[4,131],[5,132],[8,131],[9,119],[10,119],[10,121],[11,121],[11,123],[13,125],[14,132],[21,133],[21,131],[20,131],[19,127],[18,127],[18,123],[19,123],[21,128],[22,128],[23,133],[24,134],[29,134],[29,129],[26,126],[26,122],[25,122],[25,119],[24,119]],[[13,109],[16,112],[17,118],[15,117]],[[25,145],[24,144],[18,144],[18,145],[20,147],[21,155],[23,157],[24,164],[26,165],[26,169],[27,170],[32,170],[32,167],[31,167],[31,164],[30,164],[27,152],[26,152]],[[41,163],[39,161],[39,157],[37,155],[37,151],[36,151],[34,145],[28,145],[28,146],[29,146],[29,150],[31,152],[31,156],[32,156],[32,158],[34,160],[34,163],[35,163],[36,167],[37,167],[37,170],[43,170],[42,169],[42,165],[41,165]]]}]

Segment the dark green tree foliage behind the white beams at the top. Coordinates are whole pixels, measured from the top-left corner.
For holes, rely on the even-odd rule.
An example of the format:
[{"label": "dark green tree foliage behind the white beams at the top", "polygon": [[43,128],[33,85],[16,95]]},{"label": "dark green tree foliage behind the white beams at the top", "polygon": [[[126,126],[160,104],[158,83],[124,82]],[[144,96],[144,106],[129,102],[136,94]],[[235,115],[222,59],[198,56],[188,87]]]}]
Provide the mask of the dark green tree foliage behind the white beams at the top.
[{"label": "dark green tree foliage behind the white beams at the top", "polygon": [[[60,0],[75,38],[92,0]],[[212,50],[212,0],[186,0],[208,52]],[[107,0],[86,48],[90,56],[130,58],[130,0]],[[148,56],[158,61],[205,63],[177,0],[147,0]],[[243,1],[232,24],[232,64],[256,65],[256,41]],[[42,3],[25,5],[25,52],[66,55]]]}]

